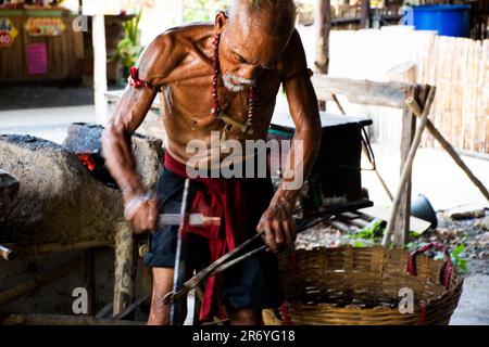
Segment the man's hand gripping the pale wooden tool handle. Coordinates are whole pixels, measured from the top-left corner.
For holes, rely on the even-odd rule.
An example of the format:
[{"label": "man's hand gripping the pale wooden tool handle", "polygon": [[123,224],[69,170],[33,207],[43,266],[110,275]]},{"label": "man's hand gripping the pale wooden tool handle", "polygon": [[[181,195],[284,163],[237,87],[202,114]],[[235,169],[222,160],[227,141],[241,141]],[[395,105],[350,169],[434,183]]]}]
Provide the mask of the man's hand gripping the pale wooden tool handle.
[{"label": "man's hand gripping the pale wooden tool handle", "polygon": [[148,194],[128,198],[124,217],[133,226],[135,233],[153,232],[158,226],[158,202]]}]

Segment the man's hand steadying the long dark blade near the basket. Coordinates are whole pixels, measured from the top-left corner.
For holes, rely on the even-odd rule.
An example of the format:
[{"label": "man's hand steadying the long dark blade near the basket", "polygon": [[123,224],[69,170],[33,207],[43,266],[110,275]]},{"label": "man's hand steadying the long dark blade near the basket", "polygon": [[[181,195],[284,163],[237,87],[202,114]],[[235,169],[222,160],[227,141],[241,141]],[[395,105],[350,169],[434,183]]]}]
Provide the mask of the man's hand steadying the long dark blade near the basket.
[{"label": "man's hand steadying the long dark blade near the basket", "polygon": [[265,242],[272,252],[291,246],[296,241],[296,222],[289,206],[272,204],[260,219],[256,231],[265,233]]}]

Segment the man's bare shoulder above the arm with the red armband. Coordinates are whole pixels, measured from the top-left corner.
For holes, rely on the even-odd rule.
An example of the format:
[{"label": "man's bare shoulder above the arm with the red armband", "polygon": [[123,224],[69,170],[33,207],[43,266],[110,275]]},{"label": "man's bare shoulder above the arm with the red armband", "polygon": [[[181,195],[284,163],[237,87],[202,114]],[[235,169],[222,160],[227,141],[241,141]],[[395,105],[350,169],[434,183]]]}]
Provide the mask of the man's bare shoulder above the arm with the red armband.
[{"label": "man's bare shoulder above the arm with the red armband", "polygon": [[168,74],[192,50],[199,49],[213,33],[213,25],[193,23],[171,28],[159,35],[142,52],[138,68],[140,78],[162,86]]}]

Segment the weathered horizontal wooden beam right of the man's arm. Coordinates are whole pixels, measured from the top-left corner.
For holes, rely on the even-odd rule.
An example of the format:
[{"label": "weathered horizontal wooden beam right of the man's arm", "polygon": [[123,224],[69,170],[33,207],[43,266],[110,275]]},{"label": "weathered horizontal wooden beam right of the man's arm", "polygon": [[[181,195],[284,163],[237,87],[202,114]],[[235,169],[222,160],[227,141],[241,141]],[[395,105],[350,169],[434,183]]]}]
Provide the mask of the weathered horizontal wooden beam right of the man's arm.
[{"label": "weathered horizontal wooden beam right of the man's arm", "polygon": [[375,82],[349,78],[315,75],[312,82],[319,100],[328,100],[331,94],[346,95],[358,104],[404,108],[411,85],[400,82]]}]

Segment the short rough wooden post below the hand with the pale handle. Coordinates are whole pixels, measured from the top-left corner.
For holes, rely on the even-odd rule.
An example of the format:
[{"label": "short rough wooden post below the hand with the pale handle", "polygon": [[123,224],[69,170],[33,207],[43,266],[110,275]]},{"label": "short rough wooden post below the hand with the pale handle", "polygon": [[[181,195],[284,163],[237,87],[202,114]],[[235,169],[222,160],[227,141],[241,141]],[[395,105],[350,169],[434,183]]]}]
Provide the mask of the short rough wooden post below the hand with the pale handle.
[{"label": "short rough wooden post below the hand with the pale handle", "polygon": [[114,310],[120,314],[135,299],[136,246],[133,230],[121,223],[115,235]]}]

